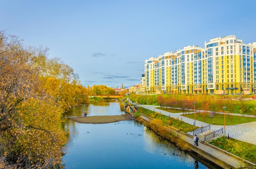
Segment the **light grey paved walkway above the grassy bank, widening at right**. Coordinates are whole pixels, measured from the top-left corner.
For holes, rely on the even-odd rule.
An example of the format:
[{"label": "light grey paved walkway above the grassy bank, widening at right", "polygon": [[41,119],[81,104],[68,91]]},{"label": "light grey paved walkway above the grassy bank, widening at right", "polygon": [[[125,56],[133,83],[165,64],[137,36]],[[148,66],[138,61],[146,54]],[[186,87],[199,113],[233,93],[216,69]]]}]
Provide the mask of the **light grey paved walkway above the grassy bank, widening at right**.
[{"label": "light grey paved walkway above the grassy bank, widening at right", "polygon": [[[155,112],[159,112],[161,114],[164,114],[169,117],[173,117],[175,119],[179,118],[180,121],[182,120],[191,125],[193,125],[195,122],[195,125],[198,127],[209,125],[208,123],[204,123],[202,121],[197,121],[197,120],[195,121],[194,119],[181,116],[181,114],[183,113],[170,113],[164,110],[159,110],[155,105],[138,105],[138,106],[144,107],[146,109],[149,109]],[[233,115],[240,116],[240,114],[233,114]],[[218,130],[218,129],[221,129],[222,127],[224,128],[224,125],[211,125],[212,130]],[[239,125],[226,125],[226,136],[228,135],[230,138],[234,138],[236,140],[240,140],[240,141],[244,141],[244,142],[256,145],[256,122],[244,123]]]}]

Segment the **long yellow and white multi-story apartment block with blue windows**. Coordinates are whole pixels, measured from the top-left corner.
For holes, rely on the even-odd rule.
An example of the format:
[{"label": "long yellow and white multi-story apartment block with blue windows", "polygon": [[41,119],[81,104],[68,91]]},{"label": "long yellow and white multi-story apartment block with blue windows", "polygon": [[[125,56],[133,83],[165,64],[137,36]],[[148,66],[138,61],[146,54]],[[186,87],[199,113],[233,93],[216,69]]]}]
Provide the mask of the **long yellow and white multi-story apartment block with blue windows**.
[{"label": "long yellow and white multi-story apartment block with blue windows", "polygon": [[145,61],[146,93],[254,94],[256,42],[216,37]]}]

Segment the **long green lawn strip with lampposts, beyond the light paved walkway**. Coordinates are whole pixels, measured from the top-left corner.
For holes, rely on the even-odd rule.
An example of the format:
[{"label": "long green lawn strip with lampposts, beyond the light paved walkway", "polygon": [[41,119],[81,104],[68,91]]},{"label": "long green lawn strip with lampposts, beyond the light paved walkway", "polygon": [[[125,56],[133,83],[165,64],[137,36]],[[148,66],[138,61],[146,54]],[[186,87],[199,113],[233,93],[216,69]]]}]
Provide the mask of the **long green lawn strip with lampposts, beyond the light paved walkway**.
[{"label": "long green lawn strip with lampposts, beyond the light paved walkway", "polygon": [[[182,114],[182,116],[194,119],[195,116],[191,114]],[[196,113],[196,120],[213,125],[224,125],[224,114],[215,114],[214,117],[209,117],[209,113]],[[226,125],[237,125],[242,123],[249,123],[256,121],[253,117],[233,116],[225,114]]]}]

